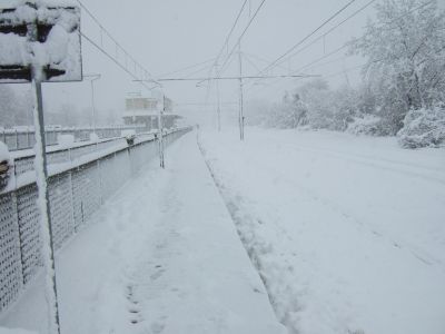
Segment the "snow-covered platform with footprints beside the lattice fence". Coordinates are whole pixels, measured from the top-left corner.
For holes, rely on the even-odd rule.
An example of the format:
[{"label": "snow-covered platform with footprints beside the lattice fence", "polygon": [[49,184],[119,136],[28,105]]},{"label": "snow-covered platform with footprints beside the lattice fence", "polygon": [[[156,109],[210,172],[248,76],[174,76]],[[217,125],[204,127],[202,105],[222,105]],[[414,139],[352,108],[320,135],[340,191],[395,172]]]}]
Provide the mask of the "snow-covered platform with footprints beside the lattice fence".
[{"label": "snow-covered platform with footprints beside the lattice fence", "polygon": [[[57,257],[63,334],[286,333],[196,145],[175,143]],[[39,277],[0,326],[46,333]]]}]

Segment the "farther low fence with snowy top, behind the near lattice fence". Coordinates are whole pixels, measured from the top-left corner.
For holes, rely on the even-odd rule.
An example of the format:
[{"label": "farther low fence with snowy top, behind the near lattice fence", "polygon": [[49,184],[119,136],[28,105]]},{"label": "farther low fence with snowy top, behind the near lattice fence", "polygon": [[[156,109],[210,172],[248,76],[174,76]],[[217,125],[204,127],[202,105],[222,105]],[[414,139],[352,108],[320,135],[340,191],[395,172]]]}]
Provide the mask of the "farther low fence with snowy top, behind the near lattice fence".
[{"label": "farther low fence with snowy top, behind the near lattice fence", "polygon": [[[48,146],[57,145],[59,135],[71,135],[76,141],[89,140],[96,131],[99,138],[120,137],[123,130],[135,130],[137,134],[146,131],[145,126],[113,126],[93,128],[51,128],[46,129],[46,143]],[[22,127],[17,129],[1,129],[0,141],[3,141],[9,150],[32,148],[36,144],[33,128]]]}]

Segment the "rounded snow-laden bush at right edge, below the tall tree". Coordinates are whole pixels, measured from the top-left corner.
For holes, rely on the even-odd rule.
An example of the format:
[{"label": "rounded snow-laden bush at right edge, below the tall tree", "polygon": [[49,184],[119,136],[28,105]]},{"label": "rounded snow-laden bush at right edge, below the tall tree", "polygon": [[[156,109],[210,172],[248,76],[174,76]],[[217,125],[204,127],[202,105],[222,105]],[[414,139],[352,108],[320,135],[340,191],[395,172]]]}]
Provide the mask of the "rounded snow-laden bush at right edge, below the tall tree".
[{"label": "rounded snow-laden bush at right edge, below the tall tree", "polygon": [[411,110],[397,136],[404,148],[445,145],[445,105]]}]

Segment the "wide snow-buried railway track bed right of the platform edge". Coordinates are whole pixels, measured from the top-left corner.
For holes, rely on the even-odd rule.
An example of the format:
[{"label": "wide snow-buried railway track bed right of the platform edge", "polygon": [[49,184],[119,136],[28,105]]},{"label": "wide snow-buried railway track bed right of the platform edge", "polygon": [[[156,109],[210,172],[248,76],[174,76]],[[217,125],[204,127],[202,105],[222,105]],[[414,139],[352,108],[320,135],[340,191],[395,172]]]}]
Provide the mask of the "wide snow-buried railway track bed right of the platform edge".
[{"label": "wide snow-buried railway track bed right of the platform edge", "polygon": [[444,149],[328,131],[200,137],[289,333],[445,333]]}]

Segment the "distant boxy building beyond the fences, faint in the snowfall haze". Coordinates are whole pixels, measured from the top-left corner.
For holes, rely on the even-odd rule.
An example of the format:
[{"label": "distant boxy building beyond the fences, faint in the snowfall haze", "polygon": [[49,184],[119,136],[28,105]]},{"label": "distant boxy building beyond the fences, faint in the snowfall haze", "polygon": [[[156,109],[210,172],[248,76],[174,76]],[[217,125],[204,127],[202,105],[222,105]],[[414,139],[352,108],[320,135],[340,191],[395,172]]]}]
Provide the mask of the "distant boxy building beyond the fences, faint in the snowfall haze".
[{"label": "distant boxy building beyond the fences, faint in the snowfall haze", "polygon": [[[180,116],[172,114],[172,101],[165,99],[164,127],[172,128]],[[125,125],[144,125],[148,130],[158,128],[159,109],[162,100],[141,96],[126,98],[126,110],[123,111]]]}]

